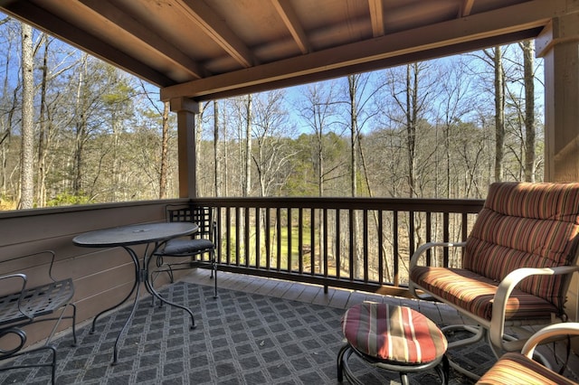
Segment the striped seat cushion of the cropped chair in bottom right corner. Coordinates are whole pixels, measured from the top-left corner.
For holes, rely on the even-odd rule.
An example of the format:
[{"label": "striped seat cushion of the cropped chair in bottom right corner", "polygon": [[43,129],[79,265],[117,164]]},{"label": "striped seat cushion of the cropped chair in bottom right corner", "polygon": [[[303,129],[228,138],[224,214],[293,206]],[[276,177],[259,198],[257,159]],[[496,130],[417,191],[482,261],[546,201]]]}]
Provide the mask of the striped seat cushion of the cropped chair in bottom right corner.
[{"label": "striped seat cushion of the cropped chair in bottom right corner", "polygon": [[477,384],[576,385],[576,382],[549,371],[523,354],[509,352],[503,355]]}]

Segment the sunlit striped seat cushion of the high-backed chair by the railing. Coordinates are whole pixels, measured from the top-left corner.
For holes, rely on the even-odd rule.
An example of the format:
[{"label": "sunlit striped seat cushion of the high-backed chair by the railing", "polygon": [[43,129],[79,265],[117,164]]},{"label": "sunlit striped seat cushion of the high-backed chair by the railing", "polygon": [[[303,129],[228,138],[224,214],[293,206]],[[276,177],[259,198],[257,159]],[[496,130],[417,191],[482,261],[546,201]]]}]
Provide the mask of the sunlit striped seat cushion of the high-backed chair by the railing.
[{"label": "sunlit striped seat cushion of the high-backed chair by the railing", "polygon": [[[415,267],[411,279],[433,295],[490,321],[498,282],[464,268]],[[541,297],[515,289],[506,311],[508,320],[550,319],[557,307]]]}]

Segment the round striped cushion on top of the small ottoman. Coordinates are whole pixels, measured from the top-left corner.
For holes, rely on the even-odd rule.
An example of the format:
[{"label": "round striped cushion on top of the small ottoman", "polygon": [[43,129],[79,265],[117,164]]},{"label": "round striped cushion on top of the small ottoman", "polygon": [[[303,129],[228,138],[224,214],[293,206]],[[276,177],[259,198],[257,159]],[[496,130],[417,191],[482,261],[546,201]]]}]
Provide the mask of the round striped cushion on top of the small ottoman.
[{"label": "round striped cushion on top of the small ottoman", "polygon": [[436,324],[404,306],[355,305],[342,318],[342,331],[356,351],[392,362],[432,362],[441,358],[447,347]]}]

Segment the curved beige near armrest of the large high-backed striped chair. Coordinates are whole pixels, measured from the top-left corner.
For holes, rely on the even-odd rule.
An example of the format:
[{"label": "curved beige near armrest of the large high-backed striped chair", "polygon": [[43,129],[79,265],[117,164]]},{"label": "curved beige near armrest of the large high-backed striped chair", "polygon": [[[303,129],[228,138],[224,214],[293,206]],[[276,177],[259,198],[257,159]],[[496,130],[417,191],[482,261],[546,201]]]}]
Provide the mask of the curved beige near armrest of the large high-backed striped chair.
[{"label": "curved beige near armrest of the large high-backed striped chair", "polygon": [[555,276],[562,274],[573,274],[579,271],[579,266],[557,266],[555,268],[517,268],[508,273],[498,285],[492,306],[490,318],[489,337],[495,346],[502,346],[502,337],[505,332],[505,313],[507,301],[517,284],[531,276]]}]

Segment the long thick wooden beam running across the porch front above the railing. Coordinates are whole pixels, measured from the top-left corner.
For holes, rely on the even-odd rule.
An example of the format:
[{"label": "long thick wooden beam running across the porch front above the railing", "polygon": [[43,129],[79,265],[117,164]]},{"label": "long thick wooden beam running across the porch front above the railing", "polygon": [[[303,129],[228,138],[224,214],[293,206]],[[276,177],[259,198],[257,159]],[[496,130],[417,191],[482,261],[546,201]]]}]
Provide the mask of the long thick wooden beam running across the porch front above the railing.
[{"label": "long thick wooden beam running across the porch front above the railing", "polygon": [[489,41],[493,37],[508,36],[521,31],[532,30],[536,33],[558,11],[560,10],[555,2],[549,2],[546,6],[545,1],[529,1],[497,11],[474,14],[449,22],[384,35],[365,42],[346,44],[300,57],[177,84],[161,89],[161,99],[179,97],[210,99],[214,94],[232,95],[236,92],[242,94],[244,89],[260,88],[261,84],[290,82],[286,80],[298,83],[296,79],[305,78],[324,79],[330,71],[336,72],[345,68],[364,66],[366,70],[371,70],[371,67],[375,66],[377,69],[384,61],[416,52],[432,52],[469,43],[473,50],[479,49],[481,47],[477,41]]}]

